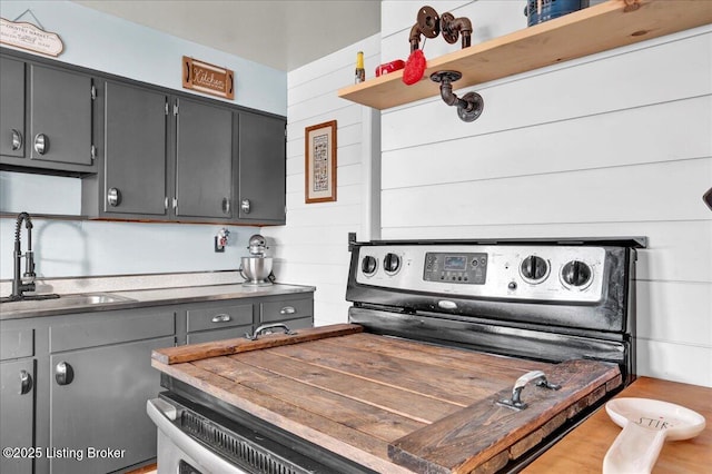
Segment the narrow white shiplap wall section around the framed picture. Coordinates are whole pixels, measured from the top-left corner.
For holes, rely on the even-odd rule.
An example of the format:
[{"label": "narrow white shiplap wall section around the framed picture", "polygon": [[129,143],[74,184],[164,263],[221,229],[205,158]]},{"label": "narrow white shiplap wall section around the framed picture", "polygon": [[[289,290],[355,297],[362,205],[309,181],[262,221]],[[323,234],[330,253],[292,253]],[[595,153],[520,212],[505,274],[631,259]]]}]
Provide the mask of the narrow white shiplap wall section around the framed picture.
[{"label": "narrow white shiplap wall section around the framed picture", "polygon": [[[378,169],[379,157],[370,151],[379,144],[379,115],[339,99],[337,90],[353,83],[357,51],[364,51],[367,73],[373,73],[380,63],[379,46],[375,34],[287,75],[287,223],[261,234],[278,282],[316,286],[317,326],[347,320],[348,233],[359,239],[374,233],[370,216],[378,211],[379,188],[372,196],[370,186],[379,175],[370,169]],[[337,200],[305,204],[304,129],[330,120],[337,121]]]}]

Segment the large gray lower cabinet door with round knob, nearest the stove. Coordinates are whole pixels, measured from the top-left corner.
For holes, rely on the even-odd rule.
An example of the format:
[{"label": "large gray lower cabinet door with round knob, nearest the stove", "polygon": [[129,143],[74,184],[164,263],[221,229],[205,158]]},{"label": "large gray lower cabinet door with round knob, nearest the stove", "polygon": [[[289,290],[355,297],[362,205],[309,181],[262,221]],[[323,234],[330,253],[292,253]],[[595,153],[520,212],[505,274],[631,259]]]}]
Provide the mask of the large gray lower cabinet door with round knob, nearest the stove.
[{"label": "large gray lower cabinet door with round knob, nearest the stove", "polygon": [[[50,356],[50,448],[83,454],[50,460],[52,473],[106,473],[156,456],[156,426],[146,414],[146,401],[160,392],[151,350],[172,345],[174,337],[162,337]],[[62,385],[60,363],[70,374]],[[90,457],[91,447],[117,456]]]}]

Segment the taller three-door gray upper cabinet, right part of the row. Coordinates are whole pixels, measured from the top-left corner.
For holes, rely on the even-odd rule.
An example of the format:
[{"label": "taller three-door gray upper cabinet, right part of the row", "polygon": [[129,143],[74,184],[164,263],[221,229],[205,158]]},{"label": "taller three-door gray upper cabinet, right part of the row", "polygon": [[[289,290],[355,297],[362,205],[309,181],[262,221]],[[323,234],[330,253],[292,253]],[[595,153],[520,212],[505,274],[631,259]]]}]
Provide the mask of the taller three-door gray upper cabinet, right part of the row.
[{"label": "taller three-door gray upper cabinet, right part of the row", "polygon": [[284,224],[284,118],[129,81],[102,81],[97,93],[100,159],[82,179],[83,215]]}]

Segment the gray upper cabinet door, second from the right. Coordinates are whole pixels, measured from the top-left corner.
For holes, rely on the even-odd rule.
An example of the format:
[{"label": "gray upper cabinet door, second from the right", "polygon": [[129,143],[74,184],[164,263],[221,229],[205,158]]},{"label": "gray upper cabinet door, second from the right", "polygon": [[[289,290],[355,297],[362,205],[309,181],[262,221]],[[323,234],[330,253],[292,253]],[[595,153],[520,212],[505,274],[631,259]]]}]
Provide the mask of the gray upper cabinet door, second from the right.
[{"label": "gray upper cabinet door, second from the right", "polygon": [[233,112],[180,99],[176,128],[178,217],[231,216]]}]

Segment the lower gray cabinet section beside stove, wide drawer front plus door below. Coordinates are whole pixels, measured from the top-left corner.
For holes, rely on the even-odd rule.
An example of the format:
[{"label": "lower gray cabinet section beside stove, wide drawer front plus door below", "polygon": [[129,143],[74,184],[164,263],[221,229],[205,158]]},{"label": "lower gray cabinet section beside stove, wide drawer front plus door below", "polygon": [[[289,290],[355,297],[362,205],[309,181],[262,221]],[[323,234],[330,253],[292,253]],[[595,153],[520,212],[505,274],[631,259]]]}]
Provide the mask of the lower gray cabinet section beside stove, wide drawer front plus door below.
[{"label": "lower gray cabinet section beside stove, wide drawer front plus door below", "polygon": [[151,350],[175,344],[175,317],[159,307],[50,322],[49,445],[83,455],[50,458],[52,473],[111,472],[156,456],[146,401],[161,388]]}]

